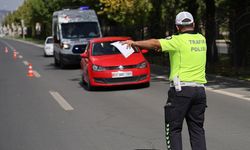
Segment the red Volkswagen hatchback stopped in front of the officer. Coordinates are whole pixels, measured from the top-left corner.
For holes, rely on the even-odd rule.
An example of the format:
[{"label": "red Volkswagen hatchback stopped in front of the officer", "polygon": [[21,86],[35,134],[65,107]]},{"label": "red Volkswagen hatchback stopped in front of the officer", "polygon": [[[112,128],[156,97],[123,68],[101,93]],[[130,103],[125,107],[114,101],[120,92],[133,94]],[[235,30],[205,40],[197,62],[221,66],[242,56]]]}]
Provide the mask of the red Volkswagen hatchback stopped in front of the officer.
[{"label": "red Volkswagen hatchback stopped in front of the officer", "polygon": [[125,56],[112,45],[130,37],[103,37],[91,39],[81,54],[82,81],[88,90],[95,86],[144,84],[149,86],[150,67],[143,54],[147,50],[133,47],[134,53]]}]

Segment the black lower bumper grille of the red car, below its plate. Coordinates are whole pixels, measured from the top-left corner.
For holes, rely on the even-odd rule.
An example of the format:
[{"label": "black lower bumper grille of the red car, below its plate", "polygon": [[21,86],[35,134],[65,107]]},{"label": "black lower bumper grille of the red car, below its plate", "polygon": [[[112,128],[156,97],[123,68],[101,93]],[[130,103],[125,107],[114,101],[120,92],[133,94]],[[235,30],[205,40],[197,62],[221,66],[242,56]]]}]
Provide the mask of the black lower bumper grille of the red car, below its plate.
[{"label": "black lower bumper grille of the red car, below its plate", "polygon": [[125,77],[125,78],[94,78],[97,83],[114,84],[124,82],[136,82],[147,78],[147,75]]}]

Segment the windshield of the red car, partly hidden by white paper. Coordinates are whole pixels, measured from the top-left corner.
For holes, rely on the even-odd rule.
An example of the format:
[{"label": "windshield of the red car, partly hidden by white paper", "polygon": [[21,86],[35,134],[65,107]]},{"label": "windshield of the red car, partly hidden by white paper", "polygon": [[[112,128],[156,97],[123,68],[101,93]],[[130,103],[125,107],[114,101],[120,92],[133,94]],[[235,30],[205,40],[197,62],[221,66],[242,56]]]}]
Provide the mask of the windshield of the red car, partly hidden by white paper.
[{"label": "windshield of the red car, partly hidden by white paper", "polygon": [[[92,47],[92,55],[93,56],[101,56],[101,55],[113,55],[113,54],[121,54],[121,52],[113,45],[112,42],[102,42],[102,43],[94,43]],[[138,48],[134,48],[135,53],[138,53]]]}]

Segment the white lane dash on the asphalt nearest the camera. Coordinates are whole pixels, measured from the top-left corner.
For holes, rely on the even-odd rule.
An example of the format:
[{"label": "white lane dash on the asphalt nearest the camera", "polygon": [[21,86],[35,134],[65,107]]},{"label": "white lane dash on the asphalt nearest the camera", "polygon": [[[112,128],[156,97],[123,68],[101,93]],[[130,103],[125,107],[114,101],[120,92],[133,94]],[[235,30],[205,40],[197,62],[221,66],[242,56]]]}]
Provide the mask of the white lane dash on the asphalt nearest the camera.
[{"label": "white lane dash on the asphalt nearest the camera", "polygon": [[58,92],[49,91],[49,93],[65,111],[74,110],[74,108]]}]

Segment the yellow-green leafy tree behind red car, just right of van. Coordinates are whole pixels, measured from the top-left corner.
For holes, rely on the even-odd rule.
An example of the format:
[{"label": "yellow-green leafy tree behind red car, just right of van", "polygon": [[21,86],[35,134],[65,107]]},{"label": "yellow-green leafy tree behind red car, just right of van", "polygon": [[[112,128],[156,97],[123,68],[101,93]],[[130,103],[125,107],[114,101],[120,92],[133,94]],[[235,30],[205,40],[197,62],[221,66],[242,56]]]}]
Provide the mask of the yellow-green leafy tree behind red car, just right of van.
[{"label": "yellow-green leafy tree behind red car, just right of van", "polygon": [[[98,14],[106,18],[109,35],[144,37],[144,27],[151,5],[149,0],[100,0]],[[136,32],[135,32],[136,31]]]}]

